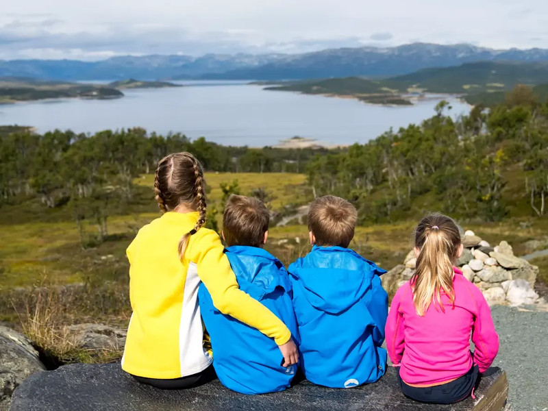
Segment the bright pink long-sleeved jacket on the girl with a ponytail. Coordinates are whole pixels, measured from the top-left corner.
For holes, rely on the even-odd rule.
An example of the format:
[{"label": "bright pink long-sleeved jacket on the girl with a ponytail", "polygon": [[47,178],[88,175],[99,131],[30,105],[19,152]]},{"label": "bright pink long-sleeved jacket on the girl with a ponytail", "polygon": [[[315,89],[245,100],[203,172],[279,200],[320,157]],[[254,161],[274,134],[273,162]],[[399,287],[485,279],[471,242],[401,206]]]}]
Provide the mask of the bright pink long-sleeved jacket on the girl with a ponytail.
[{"label": "bright pink long-sleeved jacket on the girl with a ponytail", "polygon": [[[412,385],[443,384],[464,375],[473,364],[484,373],[499,351],[499,336],[482,292],[453,268],[455,307],[442,292],[445,312],[434,303],[416,314],[409,282],[397,290],[386,321],[386,346],[399,375]],[[470,334],[475,345],[470,351]]]}]

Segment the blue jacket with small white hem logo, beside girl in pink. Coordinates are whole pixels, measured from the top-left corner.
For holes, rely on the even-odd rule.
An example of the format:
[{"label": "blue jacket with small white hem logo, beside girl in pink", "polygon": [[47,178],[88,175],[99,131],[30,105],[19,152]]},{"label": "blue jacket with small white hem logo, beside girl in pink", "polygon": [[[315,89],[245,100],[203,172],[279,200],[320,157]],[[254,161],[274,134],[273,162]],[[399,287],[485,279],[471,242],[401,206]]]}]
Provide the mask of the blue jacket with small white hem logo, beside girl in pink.
[{"label": "blue jacket with small white hem logo, beside girl in pink", "polygon": [[386,369],[386,270],[355,251],[312,247],[288,268],[301,338],[301,368],[315,384],[350,388]]}]

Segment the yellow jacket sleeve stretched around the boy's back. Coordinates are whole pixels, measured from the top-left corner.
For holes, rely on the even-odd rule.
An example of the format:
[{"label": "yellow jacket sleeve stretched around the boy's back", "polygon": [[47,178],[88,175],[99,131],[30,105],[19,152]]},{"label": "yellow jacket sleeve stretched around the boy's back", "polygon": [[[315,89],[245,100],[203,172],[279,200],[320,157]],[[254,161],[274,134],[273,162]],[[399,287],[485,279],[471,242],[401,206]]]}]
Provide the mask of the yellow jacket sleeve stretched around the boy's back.
[{"label": "yellow jacket sleeve stretched around the boy's back", "polygon": [[291,338],[284,323],[259,301],[238,288],[219,236],[210,230],[199,232],[185,258],[197,264],[198,276],[210,292],[213,305],[223,314],[234,317],[283,345]]}]

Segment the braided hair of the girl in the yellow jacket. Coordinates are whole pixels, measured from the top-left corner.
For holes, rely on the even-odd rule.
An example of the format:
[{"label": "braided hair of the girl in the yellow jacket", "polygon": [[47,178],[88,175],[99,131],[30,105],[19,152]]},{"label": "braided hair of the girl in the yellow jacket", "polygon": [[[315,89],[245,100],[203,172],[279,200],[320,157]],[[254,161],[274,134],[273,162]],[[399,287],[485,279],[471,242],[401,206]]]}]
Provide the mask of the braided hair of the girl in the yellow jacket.
[{"label": "braided hair of the girl in the yellow jacket", "polygon": [[192,204],[199,218],[194,228],[179,240],[179,258],[182,260],[188,238],[206,223],[206,180],[199,161],[190,153],[173,153],[158,162],[154,179],[155,199],[162,213],[175,210],[181,203]]}]

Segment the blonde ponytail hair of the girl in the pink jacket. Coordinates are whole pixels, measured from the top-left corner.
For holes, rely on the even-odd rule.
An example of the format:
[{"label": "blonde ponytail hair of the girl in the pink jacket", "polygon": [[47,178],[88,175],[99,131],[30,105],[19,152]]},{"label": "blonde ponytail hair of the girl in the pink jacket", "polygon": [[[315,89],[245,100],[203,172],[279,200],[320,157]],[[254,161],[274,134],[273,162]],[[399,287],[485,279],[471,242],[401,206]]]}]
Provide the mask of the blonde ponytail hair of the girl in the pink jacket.
[{"label": "blonde ponytail hair of the girl in the pink jacket", "polygon": [[453,290],[453,261],[460,246],[460,232],[453,219],[442,214],[425,216],[415,230],[415,246],[421,251],[416,258],[416,271],[410,283],[413,303],[423,316],[432,302],[441,303],[440,290],[455,304]]}]

